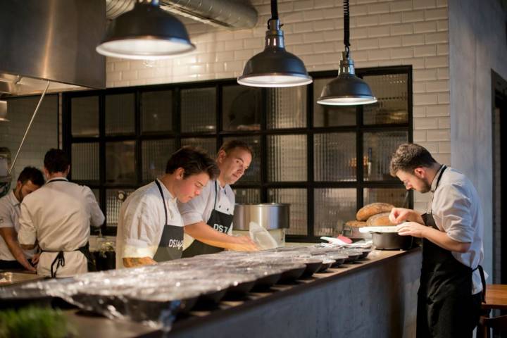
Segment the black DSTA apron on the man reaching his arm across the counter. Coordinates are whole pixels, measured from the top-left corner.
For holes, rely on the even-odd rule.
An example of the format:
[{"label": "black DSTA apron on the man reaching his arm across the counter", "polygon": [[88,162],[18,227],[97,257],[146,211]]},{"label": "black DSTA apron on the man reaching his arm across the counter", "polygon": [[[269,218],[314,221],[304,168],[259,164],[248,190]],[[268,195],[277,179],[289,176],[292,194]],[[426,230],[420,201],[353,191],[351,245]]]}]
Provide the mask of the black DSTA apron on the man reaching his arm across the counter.
[{"label": "black DSTA apron on the man reaching his arm across the counter", "polygon": [[[218,232],[223,232],[224,234],[227,234],[230,226],[232,225],[232,218],[234,216],[229,215],[227,213],[221,213],[220,211],[215,209],[216,200],[218,196],[217,185],[218,182],[215,181],[215,202],[213,203],[213,210],[211,211],[210,218],[208,219],[208,222],[206,222],[206,224],[209,225],[210,227],[213,227],[213,229],[217,230]],[[205,255],[208,253],[217,253],[223,250],[224,250],[223,248],[218,248],[217,246],[204,244],[203,242],[199,242],[197,239],[194,239],[194,242],[192,242],[192,244],[190,244],[190,246],[183,251],[183,258],[194,257],[196,255]]]}]

